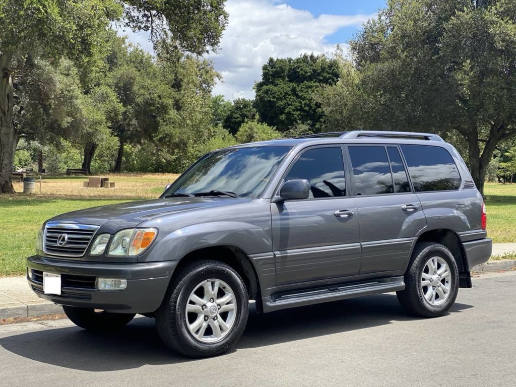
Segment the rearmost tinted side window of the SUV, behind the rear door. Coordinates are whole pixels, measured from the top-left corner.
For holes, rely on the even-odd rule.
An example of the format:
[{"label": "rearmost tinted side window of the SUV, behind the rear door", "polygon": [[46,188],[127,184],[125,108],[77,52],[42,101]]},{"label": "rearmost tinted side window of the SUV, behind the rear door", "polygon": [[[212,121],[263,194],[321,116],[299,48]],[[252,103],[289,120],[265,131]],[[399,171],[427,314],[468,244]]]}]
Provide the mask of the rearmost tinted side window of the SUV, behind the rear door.
[{"label": "rearmost tinted side window of the SUV, behind the rear door", "polygon": [[416,192],[459,189],[460,175],[451,155],[444,148],[427,145],[402,145]]}]

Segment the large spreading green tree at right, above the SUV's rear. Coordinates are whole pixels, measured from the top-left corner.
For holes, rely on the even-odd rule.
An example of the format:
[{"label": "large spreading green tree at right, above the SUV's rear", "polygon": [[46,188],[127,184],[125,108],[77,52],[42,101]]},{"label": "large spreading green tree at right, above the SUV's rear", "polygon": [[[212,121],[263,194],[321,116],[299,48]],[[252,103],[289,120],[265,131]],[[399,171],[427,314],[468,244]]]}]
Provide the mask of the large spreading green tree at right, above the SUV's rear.
[{"label": "large spreading green tree at right, above the SUV's rear", "polygon": [[326,91],[331,122],[461,137],[483,193],[497,144],[516,134],[514,0],[389,0],[350,49],[358,72]]}]

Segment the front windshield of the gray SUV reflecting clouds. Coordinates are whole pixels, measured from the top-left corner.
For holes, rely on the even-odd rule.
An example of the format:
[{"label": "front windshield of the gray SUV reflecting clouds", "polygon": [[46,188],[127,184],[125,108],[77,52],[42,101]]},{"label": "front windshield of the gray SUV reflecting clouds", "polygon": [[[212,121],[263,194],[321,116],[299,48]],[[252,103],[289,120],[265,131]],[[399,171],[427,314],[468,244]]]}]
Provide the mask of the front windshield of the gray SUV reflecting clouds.
[{"label": "front windshield of the gray SUV reflecting clouds", "polygon": [[289,150],[291,147],[268,146],[209,153],[176,180],[164,196],[223,196],[230,193],[257,198]]}]

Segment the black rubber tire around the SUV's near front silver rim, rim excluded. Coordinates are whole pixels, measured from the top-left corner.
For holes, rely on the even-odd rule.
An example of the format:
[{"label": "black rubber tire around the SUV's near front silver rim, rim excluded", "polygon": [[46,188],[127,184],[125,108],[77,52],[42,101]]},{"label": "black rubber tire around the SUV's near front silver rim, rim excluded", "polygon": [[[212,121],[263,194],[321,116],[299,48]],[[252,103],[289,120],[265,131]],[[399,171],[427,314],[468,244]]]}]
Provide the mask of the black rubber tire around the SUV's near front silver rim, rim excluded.
[{"label": "black rubber tire around the SUV's near front silver rim, rim excluded", "polygon": [[[220,341],[203,343],[187,328],[186,305],[194,289],[212,279],[223,281],[230,286],[234,294],[235,317],[231,329]],[[185,267],[170,284],[162,305],[155,312],[155,318],[159,336],[169,348],[188,357],[203,358],[217,356],[230,350],[244,333],[248,314],[247,289],[238,273],[224,263],[203,260]]]}]

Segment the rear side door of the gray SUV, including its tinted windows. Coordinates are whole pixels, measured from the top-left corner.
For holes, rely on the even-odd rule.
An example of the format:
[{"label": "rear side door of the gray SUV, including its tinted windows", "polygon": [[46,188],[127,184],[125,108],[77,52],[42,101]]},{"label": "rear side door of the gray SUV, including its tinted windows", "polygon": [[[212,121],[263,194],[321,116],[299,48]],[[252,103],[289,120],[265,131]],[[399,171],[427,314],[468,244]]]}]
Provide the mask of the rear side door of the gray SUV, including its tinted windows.
[{"label": "rear side door of the gray SUV, including its tinted windows", "polygon": [[360,273],[402,270],[426,218],[399,149],[349,145],[347,151],[360,222]]}]

